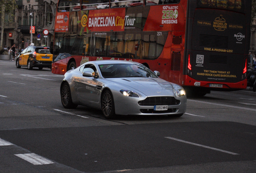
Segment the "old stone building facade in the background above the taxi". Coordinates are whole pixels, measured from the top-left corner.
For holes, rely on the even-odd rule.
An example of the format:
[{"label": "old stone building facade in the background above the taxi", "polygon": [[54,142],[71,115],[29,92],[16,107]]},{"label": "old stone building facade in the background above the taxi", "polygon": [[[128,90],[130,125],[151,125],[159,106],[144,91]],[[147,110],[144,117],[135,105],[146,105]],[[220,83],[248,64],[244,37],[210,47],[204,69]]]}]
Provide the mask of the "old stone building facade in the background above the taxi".
[{"label": "old stone building facade in the background above the taxi", "polygon": [[[5,16],[3,47],[16,43],[17,46],[26,48],[31,42],[36,46],[50,46],[50,42],[54,39],[54,20],[58,0],[17,0],[16,3],[14,16]],[[0,30],[2,31],[1,26]],[[49,34],[44,35],[43,30],[48,30]]]}]

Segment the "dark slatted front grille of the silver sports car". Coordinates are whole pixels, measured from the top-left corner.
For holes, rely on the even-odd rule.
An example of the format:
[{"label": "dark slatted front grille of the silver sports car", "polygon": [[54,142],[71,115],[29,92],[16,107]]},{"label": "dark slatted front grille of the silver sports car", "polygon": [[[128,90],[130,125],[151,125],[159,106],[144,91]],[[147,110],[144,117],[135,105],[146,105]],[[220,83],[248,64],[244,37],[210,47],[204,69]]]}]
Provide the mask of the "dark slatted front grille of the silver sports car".
[{"label": "dark slatted front grille of the silver sports car", "polygon": [[139,101],[140,106],[155,106],[155,105],[179,105],[180,101],[174,97],[147,97],[143,101]]}]

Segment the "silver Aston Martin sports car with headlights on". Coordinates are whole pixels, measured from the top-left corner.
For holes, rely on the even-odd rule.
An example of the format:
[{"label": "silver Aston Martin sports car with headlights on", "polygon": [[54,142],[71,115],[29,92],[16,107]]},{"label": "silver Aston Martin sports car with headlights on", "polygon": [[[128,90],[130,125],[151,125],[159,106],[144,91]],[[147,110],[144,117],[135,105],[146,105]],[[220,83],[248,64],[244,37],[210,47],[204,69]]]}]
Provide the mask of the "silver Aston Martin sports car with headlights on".
[{"label": "silver Aston Martin sports car with headlights on", "polygon": [[106,119],[116,115],[182,116],[187,105],[184,89],[159,75],[137,62],[86,62],[64,75],[61,102],[66,109],[78,105],[101,109]]}]

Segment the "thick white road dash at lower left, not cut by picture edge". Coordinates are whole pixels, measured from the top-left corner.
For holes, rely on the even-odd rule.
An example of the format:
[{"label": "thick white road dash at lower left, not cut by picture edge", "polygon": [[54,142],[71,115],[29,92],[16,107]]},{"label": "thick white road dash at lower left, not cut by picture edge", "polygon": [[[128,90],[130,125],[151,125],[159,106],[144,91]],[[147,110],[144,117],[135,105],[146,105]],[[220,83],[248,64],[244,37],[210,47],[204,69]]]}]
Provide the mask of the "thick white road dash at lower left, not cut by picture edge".
[{"label": "thick white road dash at lower left, not cut by picture edge", "polygon": [[35,153],[29,153],[29,154],[15,154],[16,156],[20,157],[21,159],[24,159],[25,161],[28,161],[29,163],[32,163],[33,165],[47,165],[52,164],[54,162],[45,159],[44,157],[41,157]]}]

